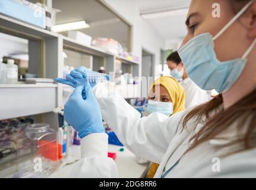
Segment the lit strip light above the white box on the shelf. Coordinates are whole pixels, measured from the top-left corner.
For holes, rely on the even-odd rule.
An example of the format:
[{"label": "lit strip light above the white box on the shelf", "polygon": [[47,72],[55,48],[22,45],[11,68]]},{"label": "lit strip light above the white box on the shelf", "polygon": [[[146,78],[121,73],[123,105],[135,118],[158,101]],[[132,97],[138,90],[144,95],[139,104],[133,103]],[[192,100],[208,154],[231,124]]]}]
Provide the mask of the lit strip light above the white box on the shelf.
[{"label": "lit strip light above the white box on the shelf", "polygon": [[79,43],[69,37],[63,37],[63,45],[64,47],[71,49],[71,50],[78,50],[80,52],[85,52],[89,55],[95,56],[113,56],[111,53],[106,52],[105,50],[99,49],[97,47],[85,45],[83,43]]}]

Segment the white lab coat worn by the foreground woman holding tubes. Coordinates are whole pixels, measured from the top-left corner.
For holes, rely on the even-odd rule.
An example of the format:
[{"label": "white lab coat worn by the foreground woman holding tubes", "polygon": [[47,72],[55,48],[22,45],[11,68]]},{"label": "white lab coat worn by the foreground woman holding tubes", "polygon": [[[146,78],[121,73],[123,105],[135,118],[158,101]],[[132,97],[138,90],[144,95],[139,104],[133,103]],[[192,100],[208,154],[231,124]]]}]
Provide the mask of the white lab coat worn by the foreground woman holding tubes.
[{"label": "white lab coat worn by the foreground woman holding tubes", "polygon": [[[161,178],[179,159],[178,165],[165,176],[166,178],[256,177],[256,148],[222,157],[230,148],[217,150],[216,147],[227,141],[211,140],[184,155],[191,144],[189,139],[203,126],[204,121],[201,121],[194,131],[194,120],[191,119],[188,129],[181,131],[181,119],[186,112],[176,113],[170,118],[161,113],[152,113],[140,118],[140,113],[119,94],[108,93],[101,84],[94,88],[94,94],[102,110],[103,119],[125,147],[137,156],[160,163],[155,178]],[[234,124],[222,136],[230,140],[235,138],[236,134]],[[83,159],[78,162],[72,177],[118,177],[115,162],[106,157],[106,134],[90,134],[83,138],[81,144]]]}]

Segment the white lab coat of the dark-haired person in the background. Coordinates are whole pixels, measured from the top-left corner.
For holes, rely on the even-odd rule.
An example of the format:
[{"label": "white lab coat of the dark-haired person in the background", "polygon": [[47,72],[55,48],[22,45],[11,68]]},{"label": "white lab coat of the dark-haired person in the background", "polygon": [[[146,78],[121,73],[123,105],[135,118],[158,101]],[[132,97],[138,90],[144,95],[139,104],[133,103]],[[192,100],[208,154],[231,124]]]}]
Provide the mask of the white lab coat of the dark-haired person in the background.
[{"label": "white lab coat of the dark-haired person in the background", "polygon": [[191,107],[200,105],[210,100],[210,96],[206,90],[202,90],[196,85],[191,78],[186,78],[179,82],[184,87],[186,93],[185,107],[190,109]]}]

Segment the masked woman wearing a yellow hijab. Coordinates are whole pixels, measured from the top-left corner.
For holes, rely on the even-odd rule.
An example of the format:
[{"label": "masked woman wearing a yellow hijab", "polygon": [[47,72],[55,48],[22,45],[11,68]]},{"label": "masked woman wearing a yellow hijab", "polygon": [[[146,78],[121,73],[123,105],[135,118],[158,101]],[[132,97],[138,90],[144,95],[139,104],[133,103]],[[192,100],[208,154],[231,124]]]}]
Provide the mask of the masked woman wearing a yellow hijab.
[{"label": "masked woman wearing a yellow hijab", "polygon": [[[185,110],[185,90],[175,80],[166,76],[157,78],[148,93],[148,113],[160,112],[167,116]],[[159,164],[151,163],[147,178],[153,178]]]}]

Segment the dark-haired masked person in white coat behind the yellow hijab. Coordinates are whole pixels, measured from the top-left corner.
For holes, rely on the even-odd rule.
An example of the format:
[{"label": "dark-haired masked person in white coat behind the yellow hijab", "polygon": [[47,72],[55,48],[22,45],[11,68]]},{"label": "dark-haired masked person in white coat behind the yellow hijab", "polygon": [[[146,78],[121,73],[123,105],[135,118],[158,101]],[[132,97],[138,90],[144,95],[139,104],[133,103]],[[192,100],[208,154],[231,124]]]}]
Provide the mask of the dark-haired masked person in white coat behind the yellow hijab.
[{"label": "dark-haired masked person in white coat behind the yellow hijab", "polygon": [[178,52],[171,53],[167,59],[167,65],[170,69],[170,75],[180,81],[186,92],[186,109],[200,105],[210,100],[206,90],[202,90],[187,75],[184,64],[179,57]]}]

